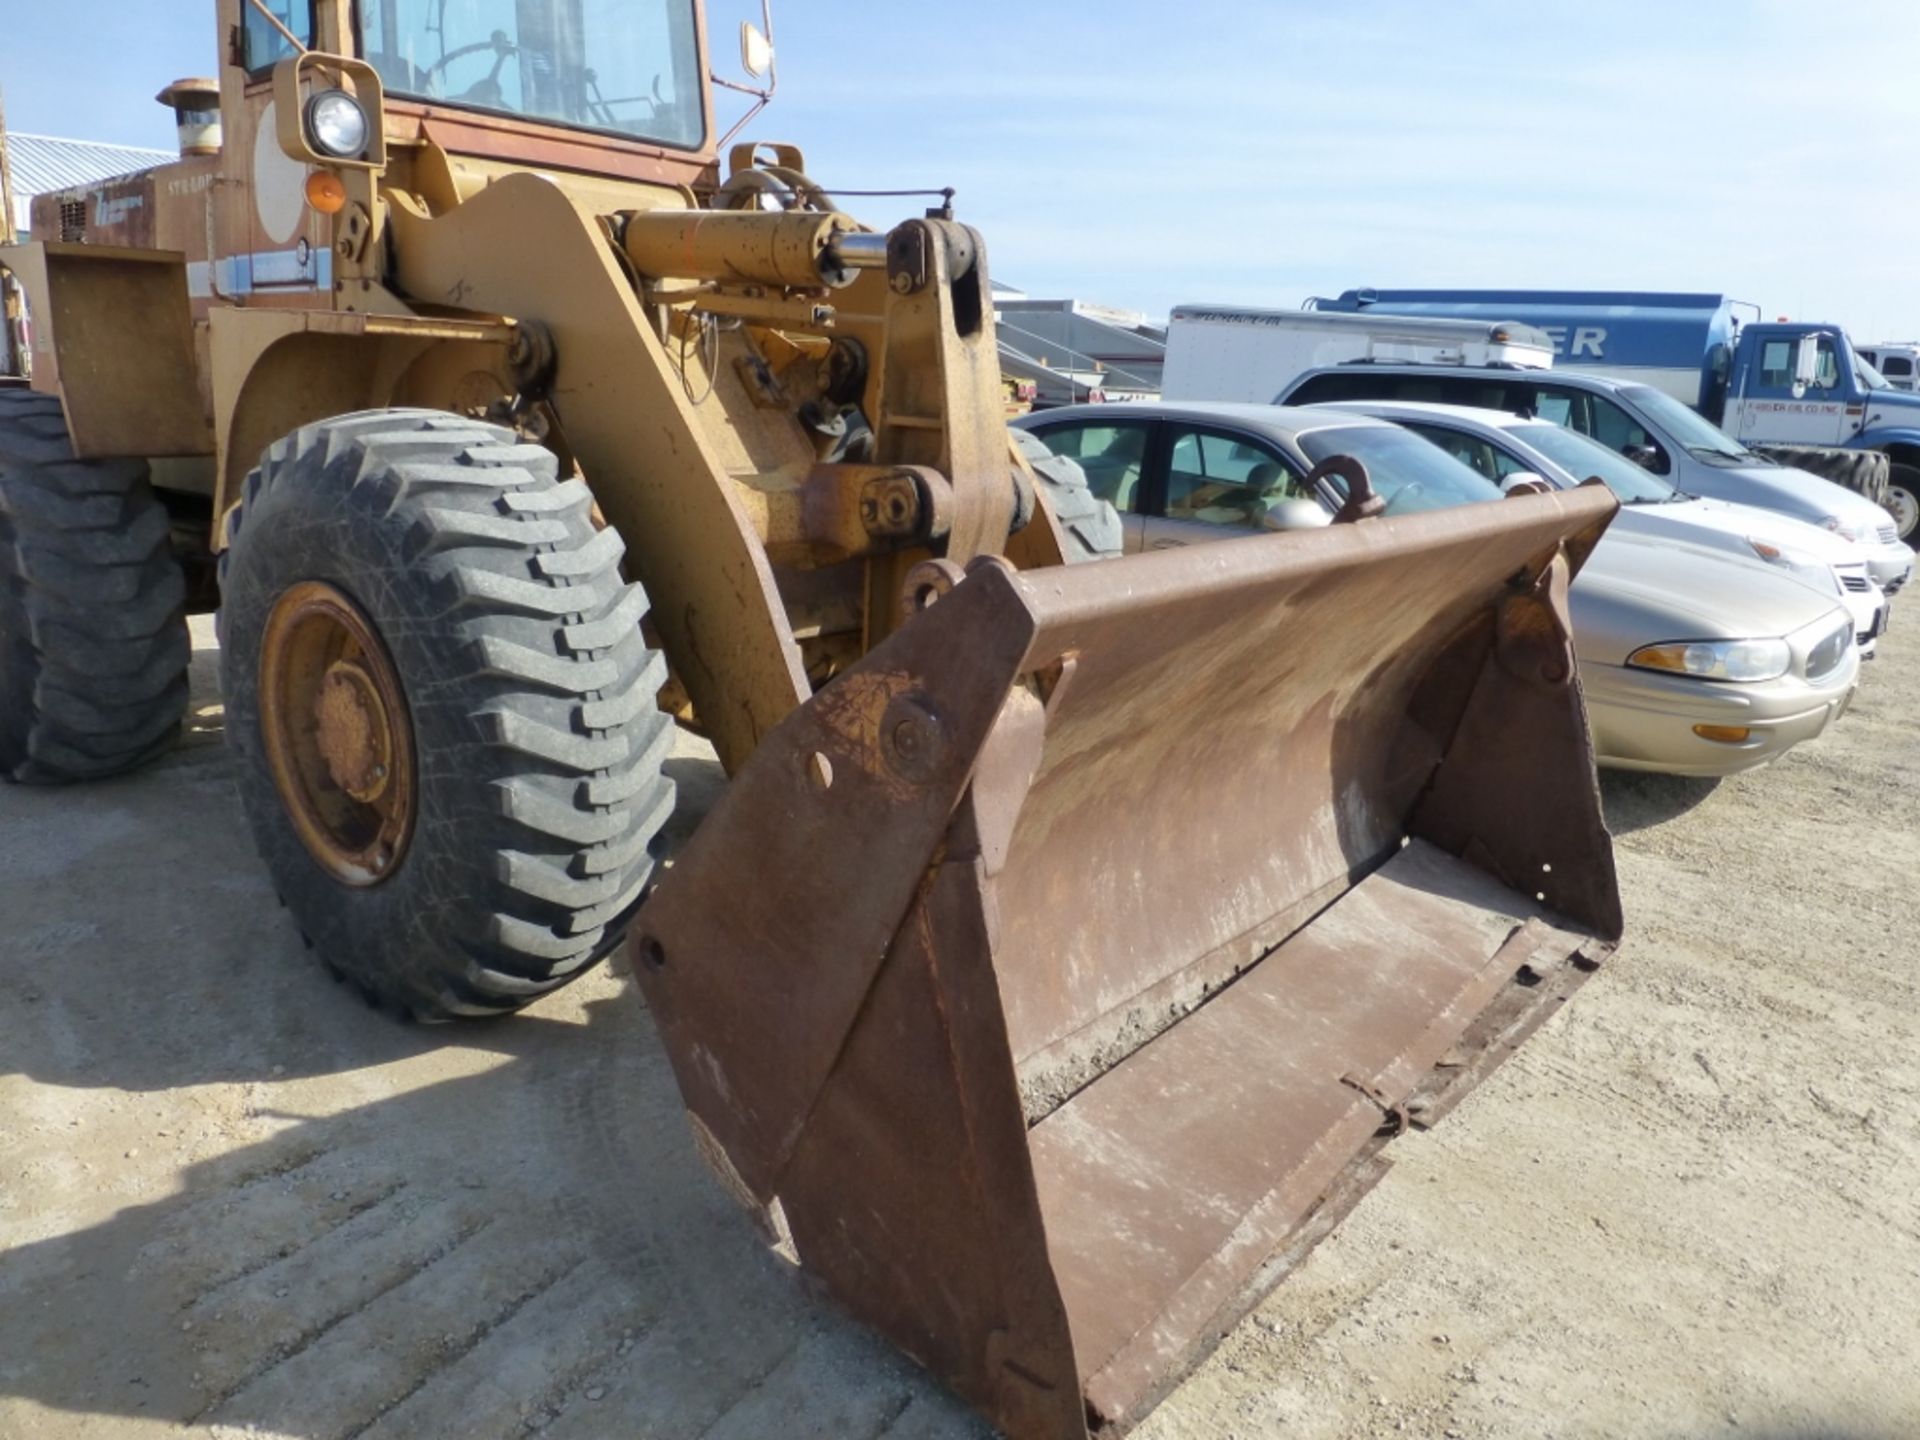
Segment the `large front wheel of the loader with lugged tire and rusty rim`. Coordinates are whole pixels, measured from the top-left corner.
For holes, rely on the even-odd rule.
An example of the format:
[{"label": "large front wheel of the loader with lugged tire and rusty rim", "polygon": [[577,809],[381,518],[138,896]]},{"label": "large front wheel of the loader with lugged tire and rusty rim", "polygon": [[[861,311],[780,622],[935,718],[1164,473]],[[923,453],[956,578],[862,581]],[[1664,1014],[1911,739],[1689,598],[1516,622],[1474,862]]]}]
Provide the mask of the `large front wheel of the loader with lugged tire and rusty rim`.
[{"label": "large front wheel of the loader with lugged tire and rusty rim", "polygon": [[436,411],[305,426],[228,516],[240,799],[301,935],[415,1020],[518,1010],[618,943],[674,806],[666,662],[586,482]]}]

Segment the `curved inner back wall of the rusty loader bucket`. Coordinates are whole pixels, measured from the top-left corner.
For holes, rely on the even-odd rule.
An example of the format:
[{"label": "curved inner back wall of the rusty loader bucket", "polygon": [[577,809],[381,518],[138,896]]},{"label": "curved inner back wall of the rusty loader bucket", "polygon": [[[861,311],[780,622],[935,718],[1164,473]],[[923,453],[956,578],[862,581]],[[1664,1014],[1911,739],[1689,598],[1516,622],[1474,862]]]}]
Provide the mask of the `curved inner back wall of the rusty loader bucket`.
[{"label": "curved inner back wall of the rusty loader bucket", "polygon": [[[1509,578],[1611,511],[1528,497],[1023,576],[1060,616],[1027,666],[1075,653],[1000,879],[1002,910],[1046,925],[1002,979],[1029,1091],[1056,1091],[1050,1071],[1071,1085],[1129,1002],[1225,979],[1419,833],[1467,703],[1448,685],[1484,672]],[[1569,716],[1561,739],[1584,739],[1571,685],[1544,703]],[[1592,755],[1555,755],[1538,803],[1563,824],[1538,864],[1563,881],[1601,868],[1611,889]],[[1075,856],[1071,881],[1058,856]]]}]

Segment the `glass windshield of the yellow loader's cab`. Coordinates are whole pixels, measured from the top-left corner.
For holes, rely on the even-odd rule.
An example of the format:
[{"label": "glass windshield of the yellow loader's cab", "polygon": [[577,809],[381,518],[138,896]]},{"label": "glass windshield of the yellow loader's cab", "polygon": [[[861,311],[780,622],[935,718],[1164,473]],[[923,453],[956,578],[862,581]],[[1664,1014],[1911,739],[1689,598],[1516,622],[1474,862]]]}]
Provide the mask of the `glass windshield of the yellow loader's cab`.
[{"label": "glass windshield of the yellow loader's cab", "polygon": [[361,54],[394,94],[705,138],[693,0],[361,0]]}]

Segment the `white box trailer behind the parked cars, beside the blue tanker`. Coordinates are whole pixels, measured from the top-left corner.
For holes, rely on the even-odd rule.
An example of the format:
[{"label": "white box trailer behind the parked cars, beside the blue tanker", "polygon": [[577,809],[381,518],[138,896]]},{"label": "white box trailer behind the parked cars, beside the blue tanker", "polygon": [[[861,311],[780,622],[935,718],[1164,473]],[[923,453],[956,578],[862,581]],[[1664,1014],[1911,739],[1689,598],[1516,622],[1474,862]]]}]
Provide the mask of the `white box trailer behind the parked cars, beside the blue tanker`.
[{"label": "white box trailer behind the parked cars, beside the blue tanker", "polygon": [[1544,371],[1553,342],[1519,323],[1175,305],[1160,390],[1165,399],[1265,405],[1306,371],[1365,361]]}]

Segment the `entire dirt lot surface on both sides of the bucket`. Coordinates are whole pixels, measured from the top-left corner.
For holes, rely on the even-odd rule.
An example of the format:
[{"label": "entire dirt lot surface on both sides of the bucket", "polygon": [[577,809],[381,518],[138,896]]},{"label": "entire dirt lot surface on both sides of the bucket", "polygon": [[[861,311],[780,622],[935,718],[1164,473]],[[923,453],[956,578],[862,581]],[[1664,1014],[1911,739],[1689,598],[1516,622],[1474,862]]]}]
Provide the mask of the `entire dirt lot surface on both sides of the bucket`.
[{"label": "entire dirt lot surface on both sides of the bucket", "polygon": [[[0,789],[0,1436],[985,1436],[707,1179],[622,975],[326,979],[198,639],[177,755]],[[1142,1440],[1920,1434],[1916,714],[1920,611],[1772,770],[1609,778],[1620,956]]]}]

